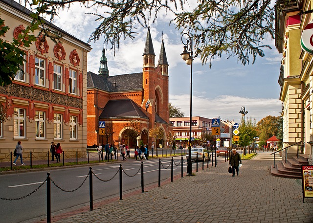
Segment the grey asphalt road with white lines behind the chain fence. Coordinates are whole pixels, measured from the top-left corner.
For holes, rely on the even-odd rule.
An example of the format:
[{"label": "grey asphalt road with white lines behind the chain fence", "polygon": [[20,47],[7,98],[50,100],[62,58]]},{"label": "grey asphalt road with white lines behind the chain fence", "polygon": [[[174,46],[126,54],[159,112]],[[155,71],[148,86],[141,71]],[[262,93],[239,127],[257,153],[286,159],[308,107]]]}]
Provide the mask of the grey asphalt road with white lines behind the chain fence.
[{"label": "grey asphalt road with white lines behind the chain fence", "polygon": [[[129,160],[131,159],[119,162],[124,170],[123,193],[141,188],[141,161]],[[178,165],[180,157],[175,157],[174,160]],[[218,158],[218,161],[223,160],[224,157]],[[186,161],[185,158],[184,161]],[[92,177],[94,201],[119,196],[119,163],[106,163],[92,167],[97,177]],[[161,180],[171,178],[171,158],[162,158],[161,163]],[[176,165],[174,165],[173,172],[174,175],[179,175],[181,164]],[[193,168],[195,167],[194,163]],[[199,168],[202,168],[202,163],[199,163]],[[185,163],[183,163],[183,170],[186,171]],[[89,202],[89,177],[87,178],[89,167],[64,168],[51,170],[49,173],[52,179],[51,212]],[[46,178],[47,172],[43,171],[0,176],[0,223],[17,223],[45,215],[47,213],[46,183],[43,184],[43,182]],[[144,185],[157,182],[158,159],[144,161]]]}]

